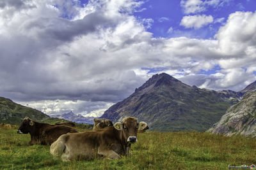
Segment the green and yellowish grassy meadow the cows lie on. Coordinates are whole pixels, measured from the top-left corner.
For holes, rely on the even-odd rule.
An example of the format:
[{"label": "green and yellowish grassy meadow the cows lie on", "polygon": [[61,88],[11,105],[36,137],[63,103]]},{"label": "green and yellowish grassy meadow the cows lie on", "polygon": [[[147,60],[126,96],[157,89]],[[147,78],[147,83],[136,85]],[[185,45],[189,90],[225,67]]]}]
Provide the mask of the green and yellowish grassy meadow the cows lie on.
[{"label": "green and yellowish grassy meadow the cows lie on", "polygon": [[29,134],[0,129],[0,169],[228,169],[256,164],[255,139],[227,138],[205,132],[146,132],[138,134],[132,156],[61,162],[49,146],[29,146]]}]

